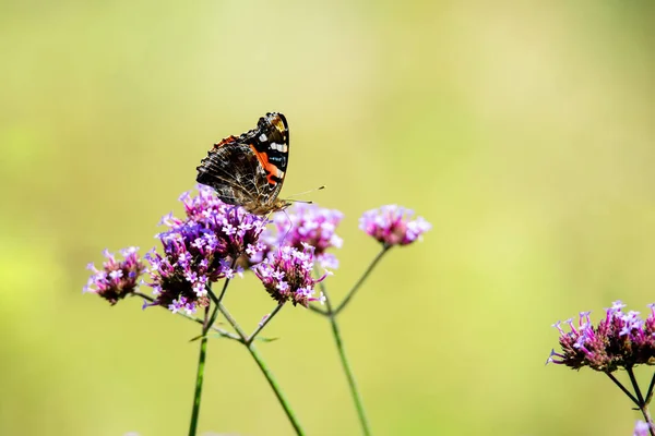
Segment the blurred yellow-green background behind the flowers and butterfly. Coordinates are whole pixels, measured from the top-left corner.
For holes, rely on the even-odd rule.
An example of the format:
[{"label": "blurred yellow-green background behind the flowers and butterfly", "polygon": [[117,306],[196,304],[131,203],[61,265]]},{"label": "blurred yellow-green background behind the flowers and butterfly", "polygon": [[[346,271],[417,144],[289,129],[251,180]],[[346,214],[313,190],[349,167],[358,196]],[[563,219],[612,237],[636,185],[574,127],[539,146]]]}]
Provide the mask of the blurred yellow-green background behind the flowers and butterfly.
[{"label": "blurred yellow-green background behind the flowers and butterfly", "polygon": [[[557,319],[655,301],[653,1],[3,1],[0,434],[187,433],[199,329],[82,295],[100,251],[155,245],[212,143],[289,120],[283,196],[346,214],[343,296],[382,204],[433,223],[342,318],[376,435],[628,435],[603,375],[548,365]],[[252,328],[248,277],[227,303]],[[329,325],[260,349],[310,435],[357,435]],[[644,377],[648,372],[641,373]],[[291,427],[210,342],[201,433]]]}]

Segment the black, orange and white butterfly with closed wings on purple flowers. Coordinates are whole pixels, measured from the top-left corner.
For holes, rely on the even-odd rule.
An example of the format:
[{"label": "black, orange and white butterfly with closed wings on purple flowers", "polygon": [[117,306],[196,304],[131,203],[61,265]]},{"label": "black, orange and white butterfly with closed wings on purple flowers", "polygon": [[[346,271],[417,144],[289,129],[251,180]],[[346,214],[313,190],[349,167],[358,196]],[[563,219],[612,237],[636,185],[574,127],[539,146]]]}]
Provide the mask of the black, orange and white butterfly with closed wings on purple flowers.
[{"label": "black, orange and white butterfly with closed wings on purple flowers", "polygon": [[289,206],[278,199],[289,160],[289,126],[278,112],[259,119],[257,128],[214,144],[201,160],[196,181],[213,187],[224,203],[267,215]]}]

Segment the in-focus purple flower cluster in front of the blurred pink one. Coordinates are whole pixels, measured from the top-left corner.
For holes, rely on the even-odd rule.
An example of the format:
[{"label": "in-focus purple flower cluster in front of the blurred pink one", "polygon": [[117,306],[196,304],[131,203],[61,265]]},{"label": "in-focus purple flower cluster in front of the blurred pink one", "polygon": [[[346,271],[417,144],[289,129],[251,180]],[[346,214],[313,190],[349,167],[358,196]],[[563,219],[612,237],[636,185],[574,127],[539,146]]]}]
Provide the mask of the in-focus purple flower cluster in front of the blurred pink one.
[{"label": "in-focus purple flower cluster in front of the blurred pink one", "polygon": [[306,245],[305,250],[299,251],[285,245],[272,257],[255,266],[253,271],[266,292],[279,304],[290,300],[294,305],[308,307],[310,301],[319,301],[322,304],[325,300],[322,292],[314,296],[313,287],[327,274],[319,279],[312,278],[313,261],[313,247]]}]

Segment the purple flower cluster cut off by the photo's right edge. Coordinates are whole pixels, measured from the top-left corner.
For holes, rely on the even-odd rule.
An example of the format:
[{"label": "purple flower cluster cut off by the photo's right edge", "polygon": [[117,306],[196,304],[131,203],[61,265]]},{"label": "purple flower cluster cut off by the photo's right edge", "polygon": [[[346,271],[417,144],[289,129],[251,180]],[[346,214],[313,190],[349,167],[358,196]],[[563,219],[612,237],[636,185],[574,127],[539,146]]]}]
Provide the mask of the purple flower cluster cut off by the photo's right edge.
[{"label": "purple flower cluster cut off by the photo's right edge", "polygon": [[570,331],[564,331],[560,322],[556,323],[553,327],[559,330],[562,351],[552,350],[548,362],[574,370],[590,366],[605,373],[655,364],[655,304],[648,305],[651,314],[645,320],[640,318],[639,312],[626,313],[620,301],[614,302],[598,326],[592,324],[590,312],[582,312],[577,323],[565,320]]}]

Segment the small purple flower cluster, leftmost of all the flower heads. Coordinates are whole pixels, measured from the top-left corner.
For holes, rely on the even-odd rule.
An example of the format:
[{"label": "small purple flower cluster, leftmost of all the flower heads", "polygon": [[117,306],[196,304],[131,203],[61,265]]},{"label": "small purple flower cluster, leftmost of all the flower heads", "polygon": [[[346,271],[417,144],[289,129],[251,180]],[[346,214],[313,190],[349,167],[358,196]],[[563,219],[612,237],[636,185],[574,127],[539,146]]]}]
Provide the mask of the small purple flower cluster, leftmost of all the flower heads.
[{"label": "small purple flower cluster, leftmost of all the flower heads", "polygon": [[117,261],[114,254],[105,250],[103,254],[107,261],[103,264],[103,269],[96,269],[93,264],[88,264],[87,268],[93,271],[93,275],[88,278],[83,292],[97,293],[112,305],[134,292],[139,276],[145,269],[136,254],[138,251],[135,246],[121,250],[123,261]]}]

